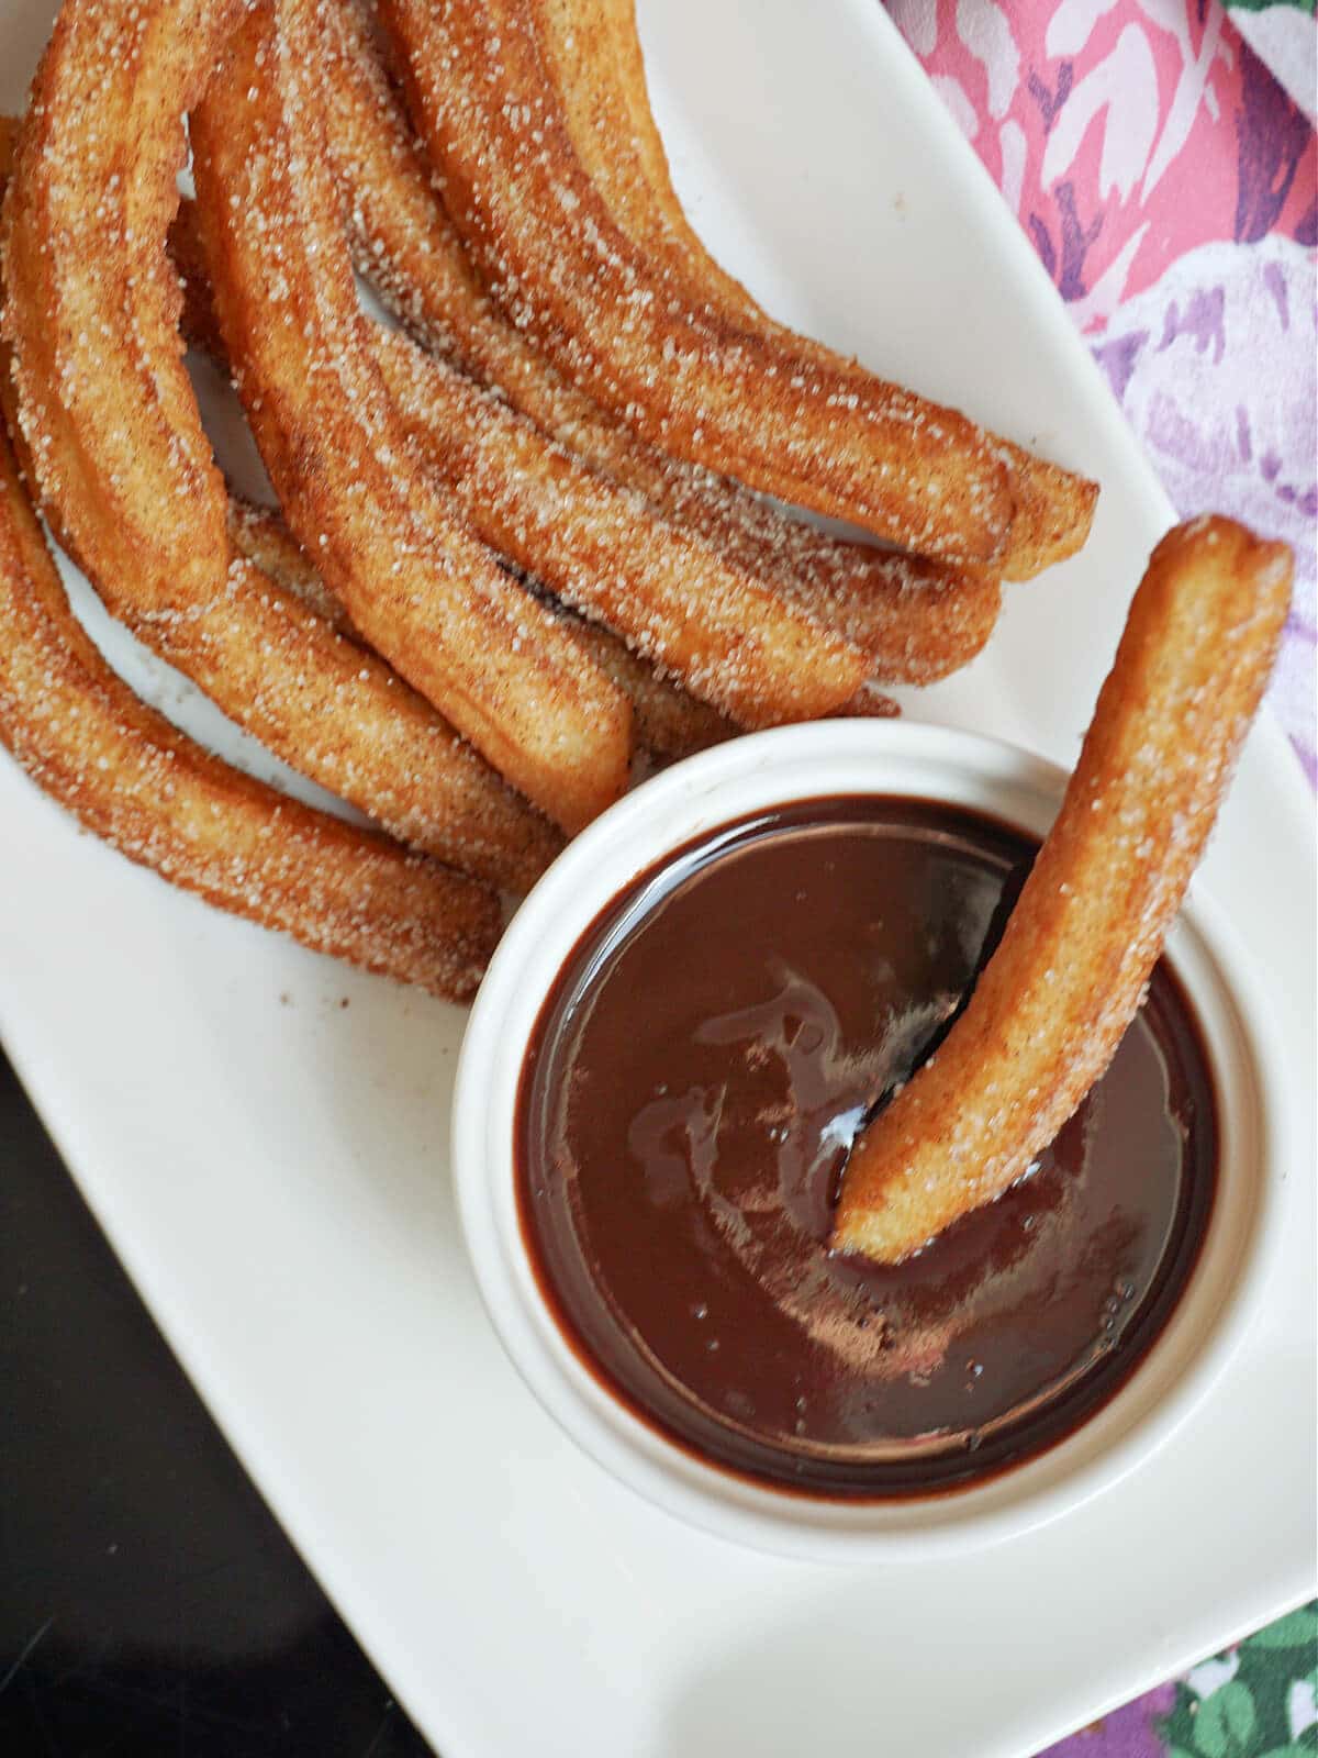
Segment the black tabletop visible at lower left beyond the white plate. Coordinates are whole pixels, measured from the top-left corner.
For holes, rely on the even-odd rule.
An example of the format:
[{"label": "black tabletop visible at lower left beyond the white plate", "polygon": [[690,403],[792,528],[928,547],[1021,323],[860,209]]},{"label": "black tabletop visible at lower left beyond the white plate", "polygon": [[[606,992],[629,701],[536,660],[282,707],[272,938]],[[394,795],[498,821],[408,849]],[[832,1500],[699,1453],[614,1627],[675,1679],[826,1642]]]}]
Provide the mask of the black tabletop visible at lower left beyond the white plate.
[{"label": "black tabletop visible at lower left beyond the white plate", "polygon": [[0,1754],[424,1758],[0,1055]]}]

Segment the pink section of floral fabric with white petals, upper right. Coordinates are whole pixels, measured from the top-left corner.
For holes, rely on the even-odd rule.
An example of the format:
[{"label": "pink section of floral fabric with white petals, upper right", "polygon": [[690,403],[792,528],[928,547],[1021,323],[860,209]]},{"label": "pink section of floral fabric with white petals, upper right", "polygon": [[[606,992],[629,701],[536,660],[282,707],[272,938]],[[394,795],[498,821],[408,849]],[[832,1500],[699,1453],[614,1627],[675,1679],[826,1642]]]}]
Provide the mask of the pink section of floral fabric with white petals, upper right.
[{"label": "pink section of floral fabric with white petals, upper right", "polygon": [[1311,128],[1220,5],[889,0],[1084,331],[1197,244],[1314,244]]}]

